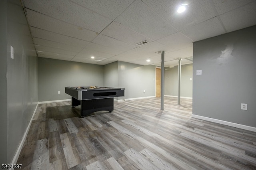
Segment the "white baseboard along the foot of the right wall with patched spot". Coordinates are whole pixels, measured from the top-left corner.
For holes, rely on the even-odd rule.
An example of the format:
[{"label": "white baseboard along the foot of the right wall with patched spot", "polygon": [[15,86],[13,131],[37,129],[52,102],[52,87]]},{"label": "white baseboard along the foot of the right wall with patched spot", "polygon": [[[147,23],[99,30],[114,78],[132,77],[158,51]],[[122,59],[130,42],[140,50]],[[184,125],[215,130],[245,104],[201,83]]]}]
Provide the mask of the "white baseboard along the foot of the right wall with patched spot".
[{"label": "white baseboard along the foot of the right wall with patched spot", "polygon": [[204,117],[204,116],[199,116],[199,115],[192,115],[192,117],[196,118],[196,119],[202,119],[204,121],[210,121],[210,122],[219,123],[219,124],[222,124],[222,125],[228,125],[230,127],[236,127],[236,128],[241,128],[241,129],[244,129],[244,130],[250,130],[252,132],[256,132],[256,127],[240,125],[240,124],[237,124],[237,123],[222,121],[222,120],[218,120],[218,119],[212,119],[210,117]]}]

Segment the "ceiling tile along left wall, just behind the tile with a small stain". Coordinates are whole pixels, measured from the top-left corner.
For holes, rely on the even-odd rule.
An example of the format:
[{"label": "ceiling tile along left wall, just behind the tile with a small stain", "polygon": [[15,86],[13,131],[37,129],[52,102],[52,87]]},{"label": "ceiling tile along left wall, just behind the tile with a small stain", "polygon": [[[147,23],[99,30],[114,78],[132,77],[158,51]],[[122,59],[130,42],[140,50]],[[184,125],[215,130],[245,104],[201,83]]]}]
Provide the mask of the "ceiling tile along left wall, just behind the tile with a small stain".
[{"label": "ceiling tile along left wall, just behind the tile with a small stain", "polygon": [[78,47],[85,47],[89,43],[84,40],[79,40],[76,38],[56,34],[53,32],[41,30],[41,29],[34,28],[34,27],[31,27],[30,30],[32,32],[33,37],[41,38],[41,39],[49,40],[49,41],[53,41],[53,42],[59,42],[59,43],[64,43],[67,45],[74,45],[74,46],[78,46]]}]

